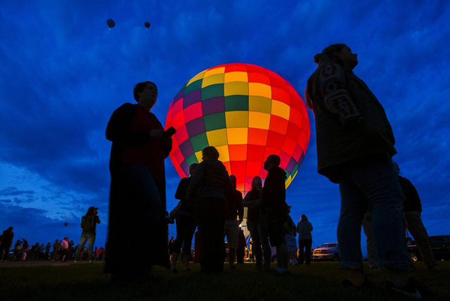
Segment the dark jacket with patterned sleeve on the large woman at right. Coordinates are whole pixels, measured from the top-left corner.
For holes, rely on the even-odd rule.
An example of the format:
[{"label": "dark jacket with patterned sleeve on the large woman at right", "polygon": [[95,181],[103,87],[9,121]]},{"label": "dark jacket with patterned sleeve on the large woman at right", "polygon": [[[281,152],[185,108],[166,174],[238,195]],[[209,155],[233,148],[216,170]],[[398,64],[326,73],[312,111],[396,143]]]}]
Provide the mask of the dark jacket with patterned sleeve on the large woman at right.
[{"label": "dark jacket with patterned sleeve on the large woman at right", "polygon": [[319,65],[307,90],[314,93],[319,174],[338,183],[342,164],[397,153],[383,106],[352,71],[335,62]]}]

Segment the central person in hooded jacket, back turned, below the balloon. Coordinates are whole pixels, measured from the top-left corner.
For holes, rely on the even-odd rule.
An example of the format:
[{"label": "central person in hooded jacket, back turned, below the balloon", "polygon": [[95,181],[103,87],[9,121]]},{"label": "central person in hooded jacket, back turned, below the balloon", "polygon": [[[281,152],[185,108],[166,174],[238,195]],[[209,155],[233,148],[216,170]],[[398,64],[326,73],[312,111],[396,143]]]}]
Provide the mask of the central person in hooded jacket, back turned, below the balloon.
[{"label": "central person in hooded jacket, back turned, below the balloon", "polygon": [[186,193],[188,203],[194,205],[198,231],[202,237],[200,267],[203,272],[224,271],[224,224],[227,197],[233,186],[225,166],[219,161],[214,146],[202,151],[203,161],[191,179]]}]

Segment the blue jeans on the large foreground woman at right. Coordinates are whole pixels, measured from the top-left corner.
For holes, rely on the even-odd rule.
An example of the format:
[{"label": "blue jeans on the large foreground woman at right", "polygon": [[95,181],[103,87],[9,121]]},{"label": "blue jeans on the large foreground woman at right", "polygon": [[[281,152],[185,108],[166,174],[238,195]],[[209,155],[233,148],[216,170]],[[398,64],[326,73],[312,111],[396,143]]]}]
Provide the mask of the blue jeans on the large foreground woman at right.
[{"label": "blue jeans on the large foreground woman at right", "polygon": [[372,231],[378,265],[409,270],[404,248],[404,198],[397,174],[388,155],[350,162],[340,177],[341,210],[338,224],[340,267],[362,269],[361,223],[367,203],[372,208]]}]

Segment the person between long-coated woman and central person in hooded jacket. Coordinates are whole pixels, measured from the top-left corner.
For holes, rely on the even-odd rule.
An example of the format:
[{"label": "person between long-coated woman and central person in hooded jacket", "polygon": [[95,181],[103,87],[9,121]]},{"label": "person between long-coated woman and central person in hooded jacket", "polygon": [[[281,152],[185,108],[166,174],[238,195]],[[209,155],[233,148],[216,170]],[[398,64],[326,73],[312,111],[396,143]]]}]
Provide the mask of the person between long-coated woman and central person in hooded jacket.
[{"label": "person between long-coated woman and central person in hooded jacket", "polygon": [[[197,165],[197,163],[193,163],[189,166],[189,175],[191,177],[195,174]],[[183,271],[189,271],[192,238],[195,228],[197,228],[194,216],[194,206],[186,201],[186,193],[188,192],[189,183],[191,183],[191,177],[181,179],[175,192],[175,198],[181,201],[181,207],[175,216],[176,240],[172,255],[172,271],[176,271],[176,262],[179,259],[181,245],[183,245]]]}]

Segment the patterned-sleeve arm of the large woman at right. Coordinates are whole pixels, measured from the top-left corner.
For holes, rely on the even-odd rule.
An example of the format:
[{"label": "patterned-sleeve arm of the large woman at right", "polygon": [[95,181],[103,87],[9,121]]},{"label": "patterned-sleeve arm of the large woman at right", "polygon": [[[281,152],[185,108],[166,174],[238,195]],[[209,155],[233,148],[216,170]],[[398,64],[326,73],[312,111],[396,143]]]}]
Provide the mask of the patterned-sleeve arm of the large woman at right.
[{"label": "patterned-sleeve arm of the large woman at right", "polygon": [[319,70],[320,91],[326,108],[339,116],[345,129],[354,130],[364,118],[345,88],[345,69],[337,63],[327,63]]}]

